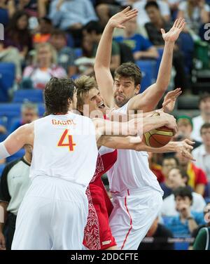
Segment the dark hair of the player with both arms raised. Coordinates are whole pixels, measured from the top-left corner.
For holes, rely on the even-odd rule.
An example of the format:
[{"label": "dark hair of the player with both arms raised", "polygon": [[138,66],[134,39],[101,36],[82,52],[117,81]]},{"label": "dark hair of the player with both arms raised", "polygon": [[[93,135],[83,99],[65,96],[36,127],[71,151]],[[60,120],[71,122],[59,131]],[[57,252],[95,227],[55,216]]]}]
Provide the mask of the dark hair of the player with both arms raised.
[{"label": "dark hair of the player with both arms raised", "polygon": [[116,77],[130,77],[137,86],[141,84],[142,74],[139,67],[133,62],[125,62],[116,69],[114,78]]}]

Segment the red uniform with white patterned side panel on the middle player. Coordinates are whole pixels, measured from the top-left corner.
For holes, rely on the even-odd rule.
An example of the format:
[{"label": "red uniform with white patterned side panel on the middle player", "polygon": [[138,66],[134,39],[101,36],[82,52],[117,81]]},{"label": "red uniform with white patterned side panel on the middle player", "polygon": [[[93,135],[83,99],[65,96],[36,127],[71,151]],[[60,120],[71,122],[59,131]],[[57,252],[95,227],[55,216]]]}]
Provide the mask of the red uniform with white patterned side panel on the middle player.
[{"label": "red uniform with white patterned side panel on the middle player", "polygon": [[84,230],[83,244],[90,250],[107,249],[116,246],[109,227],[109,216],[113,205],[102,182],[102,175],[109,171],[117,160],[117,150],[98,155],[97,167],[87,187],[89,212]]}]

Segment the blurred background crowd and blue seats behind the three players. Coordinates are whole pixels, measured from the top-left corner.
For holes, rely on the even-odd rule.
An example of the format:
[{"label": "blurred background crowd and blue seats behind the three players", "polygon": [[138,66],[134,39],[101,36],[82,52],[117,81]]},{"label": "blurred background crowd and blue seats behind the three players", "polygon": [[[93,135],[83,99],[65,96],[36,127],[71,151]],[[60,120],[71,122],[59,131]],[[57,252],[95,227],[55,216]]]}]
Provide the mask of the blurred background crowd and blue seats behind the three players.
[{"label": "blurred background crowd and blue seats behind the three players", "polygon": [[[139,249],[200,249],[210,233],[210,1],[0,0],[0,142],[42,117],[42,91],[51,77],[94,76],[104,27],[128,5],[139,14],[125,30],[115,30],[110,67],[114,72],[123,62],[136,62],[144,77],[140,93],[158,75],[164,46],[160,29],[167,32],[176,18],[186,19],[174,48],[168,90],[182,88],[173,112],[178,124],[174,140],[195,141],[196,159],[149,153],[151,170],[165,194],[160,216]],[[30,162],[29,149],[0,161],[0,199],[8,211],[0,242],[7,237],[7,249],[29,186]]]}]

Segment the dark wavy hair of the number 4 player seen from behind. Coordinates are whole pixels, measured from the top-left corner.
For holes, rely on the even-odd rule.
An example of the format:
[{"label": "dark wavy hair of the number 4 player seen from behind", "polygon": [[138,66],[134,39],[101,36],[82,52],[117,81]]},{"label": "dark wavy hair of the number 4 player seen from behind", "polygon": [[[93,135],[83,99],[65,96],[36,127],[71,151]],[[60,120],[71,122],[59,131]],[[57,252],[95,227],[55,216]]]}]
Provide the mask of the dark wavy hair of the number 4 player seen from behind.
[{"label": "dark wavy hair of the number 4 player seen from behind", "polygon": [[44,89],[45,115],[66,114],[69,111],[68,99],[73,100],[75,89],[72,79],[52,77]]}]

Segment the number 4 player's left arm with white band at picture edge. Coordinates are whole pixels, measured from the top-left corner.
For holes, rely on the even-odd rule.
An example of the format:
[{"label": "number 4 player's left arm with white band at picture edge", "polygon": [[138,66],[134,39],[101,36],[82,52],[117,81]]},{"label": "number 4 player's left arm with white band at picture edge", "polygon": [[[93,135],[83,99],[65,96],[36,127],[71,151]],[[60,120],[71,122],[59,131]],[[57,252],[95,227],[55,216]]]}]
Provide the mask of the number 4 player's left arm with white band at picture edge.
[{"label": "number 4 player's left arm with white band at picture edge", "polygon": [[25,144],[34,144],[34,123],[20,126],[0,143],[0,159],[18,152]]}]

